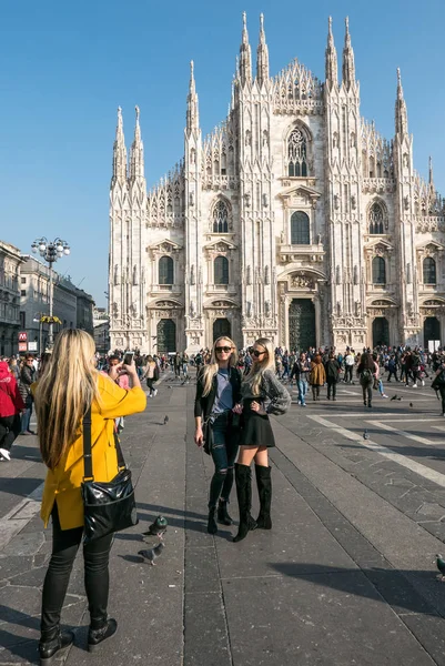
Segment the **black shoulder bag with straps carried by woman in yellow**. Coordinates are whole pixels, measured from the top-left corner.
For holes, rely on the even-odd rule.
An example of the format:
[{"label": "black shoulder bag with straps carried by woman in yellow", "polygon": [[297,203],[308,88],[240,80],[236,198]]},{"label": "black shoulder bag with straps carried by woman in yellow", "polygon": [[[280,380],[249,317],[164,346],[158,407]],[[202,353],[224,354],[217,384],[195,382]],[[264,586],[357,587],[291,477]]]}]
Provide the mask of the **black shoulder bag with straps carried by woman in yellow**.
[{"label": "black shoulder bag with straps carried by woman in yellow", "polygon": [[114,433],[119,472],[111,481],[94,481],[91,456],[91,407],[83,417],[83,465],[81,485],[84,511],[83,543],[138,525],[131,472],[125,467],[119,437]]}]

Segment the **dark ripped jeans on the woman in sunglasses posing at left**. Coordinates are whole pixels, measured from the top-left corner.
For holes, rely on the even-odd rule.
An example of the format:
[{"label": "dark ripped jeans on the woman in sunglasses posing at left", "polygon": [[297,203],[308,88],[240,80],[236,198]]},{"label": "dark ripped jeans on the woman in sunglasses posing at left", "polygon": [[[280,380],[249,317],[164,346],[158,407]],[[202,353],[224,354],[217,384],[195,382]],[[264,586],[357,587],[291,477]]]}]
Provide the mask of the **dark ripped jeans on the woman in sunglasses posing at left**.
[{"label": "dark ripped jeans on the woman in sunglasses posing at left", "polygon": [[231,431],[227,414],[218,416],[212,428],[211,454],[215,471],[210,483],[209,508],[221,500],[229,502],[233,486],[233,470],[239,450],[239,436]]}]

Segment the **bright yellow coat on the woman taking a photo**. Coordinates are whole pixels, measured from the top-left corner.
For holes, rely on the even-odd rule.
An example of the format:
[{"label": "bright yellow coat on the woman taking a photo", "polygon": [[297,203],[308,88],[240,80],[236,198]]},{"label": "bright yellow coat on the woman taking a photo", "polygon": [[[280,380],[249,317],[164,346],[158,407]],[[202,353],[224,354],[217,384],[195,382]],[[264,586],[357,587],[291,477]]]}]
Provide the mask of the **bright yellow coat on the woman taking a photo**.
[{"label": "bright yellow coat on the woman taking a photo", "polygon": [[[101,405],[91,407],[91,444],[94,481],[111,481],[118,474],[114,446],[114,418],[143,412],[146,396],[142,389],[124,391],[112,380],[99,375]],[[83,480],[83,437],[75,440],[54,470],[48,470],[40,516],[47,527],[54,501],[62,529],[83,526],[83,503],[80,492]]]}]

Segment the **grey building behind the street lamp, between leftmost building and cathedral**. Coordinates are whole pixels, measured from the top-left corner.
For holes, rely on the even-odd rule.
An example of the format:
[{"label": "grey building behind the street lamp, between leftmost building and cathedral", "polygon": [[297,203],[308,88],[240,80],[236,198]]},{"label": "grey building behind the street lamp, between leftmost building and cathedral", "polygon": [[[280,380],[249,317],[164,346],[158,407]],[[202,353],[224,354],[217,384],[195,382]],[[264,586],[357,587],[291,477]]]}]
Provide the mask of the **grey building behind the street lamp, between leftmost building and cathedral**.
[{"label": "grey building behind the street lamp, between leftmost building and cathedral", "polygon": [[[41,317],[50,311],[49,266],[29,254],[22,255],[20,268],[20,326],[27,332],[29,351],[42,353],[47,349],[49,325]],[[72,284],[71,280],[53,271],[54,335],[62,329],[84,329],[93,335],[94,301],[90,294]],[[31,343],[31,344],[30,344]]]}]

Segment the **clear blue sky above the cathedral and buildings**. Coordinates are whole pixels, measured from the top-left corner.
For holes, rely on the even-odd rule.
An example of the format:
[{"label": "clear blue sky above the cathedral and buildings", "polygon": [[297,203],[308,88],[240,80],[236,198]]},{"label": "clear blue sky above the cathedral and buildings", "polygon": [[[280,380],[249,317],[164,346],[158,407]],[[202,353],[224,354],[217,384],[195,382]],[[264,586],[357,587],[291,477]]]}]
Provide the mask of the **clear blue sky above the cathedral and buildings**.
[{"label": "clear blue sky above the cathedral and buildings", "polygon": [[183,153],[191,59],[203,133],[225,117],[243,10],[253,54],[265,14],[271,73],[296,57],[321,79],[327,17],[341,58],[348,14],[362,115],[392,138],[401,67],[415,167],[426,175],[433,155],[445,195],[444,0],[3,0],[0,239],[22,251],[38,235],[68,240],[58,269],[104,305],[117,107],[128,145],[141,108],[150,188]]}]

